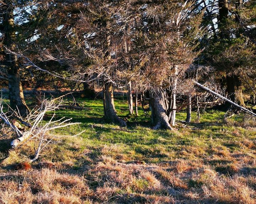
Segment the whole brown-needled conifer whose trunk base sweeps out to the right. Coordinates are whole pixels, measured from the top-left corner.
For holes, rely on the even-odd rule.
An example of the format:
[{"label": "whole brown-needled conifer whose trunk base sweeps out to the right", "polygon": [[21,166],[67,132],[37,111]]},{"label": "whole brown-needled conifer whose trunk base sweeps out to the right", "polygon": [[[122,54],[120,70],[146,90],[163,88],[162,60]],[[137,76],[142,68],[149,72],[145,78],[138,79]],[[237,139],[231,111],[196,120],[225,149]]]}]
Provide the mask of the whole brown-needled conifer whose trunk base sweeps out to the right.
[{"label": "whole brown-needled conifer whose trunk base sweeps out to the right", "polygon": [[[103,86],[103,107],[107,120],[126,126],[114,107],[113,87],[126,84],[123,70],[128,70],[127,39],[134,21],[130,1],[89,1],[76,26],[76,35],[85,39],[84,53],[92,60],[87,68],[89,76],[97,73],[97,83]],[[85,38],[84,38],[85,36]],[[127,44],[128,42],[128,44]]]}]

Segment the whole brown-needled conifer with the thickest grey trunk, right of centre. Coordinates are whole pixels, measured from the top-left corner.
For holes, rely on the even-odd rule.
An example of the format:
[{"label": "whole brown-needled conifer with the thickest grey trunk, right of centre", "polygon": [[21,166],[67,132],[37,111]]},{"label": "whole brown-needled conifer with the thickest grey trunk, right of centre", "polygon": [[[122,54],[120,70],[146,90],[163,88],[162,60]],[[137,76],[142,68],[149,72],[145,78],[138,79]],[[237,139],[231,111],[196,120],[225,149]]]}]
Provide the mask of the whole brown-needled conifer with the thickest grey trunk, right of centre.
[{"label": "whole brown-needled conifer with the thickest grey trunk, right of centre", "polygon": [[179,79],[198,55],[194,49],[202,15],[194,15],[197,6],[188,1],[151,1],[138,9],[141,18],[131,37],[131,53],[137,60],[132,80],[136,89],[149,92],[154,129],[174,126]]}]

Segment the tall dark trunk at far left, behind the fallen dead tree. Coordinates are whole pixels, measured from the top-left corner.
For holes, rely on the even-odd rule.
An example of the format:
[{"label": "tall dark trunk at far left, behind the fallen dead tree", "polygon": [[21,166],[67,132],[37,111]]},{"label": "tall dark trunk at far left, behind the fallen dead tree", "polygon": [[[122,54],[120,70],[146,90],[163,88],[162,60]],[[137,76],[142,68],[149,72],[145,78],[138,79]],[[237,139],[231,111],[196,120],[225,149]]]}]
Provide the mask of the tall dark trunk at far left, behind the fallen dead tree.
[{"label": "tall dark trunk at far left, behind the fallen dead tree", "polygon": [[[14,29],[14,7],[12,1],[5,0],[2,12],[4,27],[4,45],[11,51],[15,51],[15,29]],[[7,76],[9,83],[10,107],[18,109],[22,116],[26,116],[30,111],[23,96],[23,89],[20,80],[20,69],[17,57],[11,53],[5,54],[5,65],[8,67]]]}]

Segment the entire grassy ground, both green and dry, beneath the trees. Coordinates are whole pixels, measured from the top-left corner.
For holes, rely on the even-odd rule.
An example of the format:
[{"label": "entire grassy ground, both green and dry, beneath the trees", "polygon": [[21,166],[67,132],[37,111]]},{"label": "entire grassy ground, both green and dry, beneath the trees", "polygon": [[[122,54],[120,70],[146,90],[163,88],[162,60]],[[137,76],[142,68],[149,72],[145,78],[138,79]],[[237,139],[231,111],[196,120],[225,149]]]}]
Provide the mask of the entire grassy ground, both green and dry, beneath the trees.
[{"label": "entire grassy ground, both green and dry, beneath the trees", "polygon": [[0,203],[256,203],[256,128],[241,115],[226,124],[225,112],[206,109],[200,122],[193,112],[190,125],[155,131],[142,109],[128,117],[119,98],[118,115],[135,131],[124,132],[92,128],[117,126],[103,121],[101,100],[76,100],[88,109],[61,109],[55,119],[81,124],[52,132],[56,143],[31,165],[32,141],[10,150],[11,138],[0,137]]}]

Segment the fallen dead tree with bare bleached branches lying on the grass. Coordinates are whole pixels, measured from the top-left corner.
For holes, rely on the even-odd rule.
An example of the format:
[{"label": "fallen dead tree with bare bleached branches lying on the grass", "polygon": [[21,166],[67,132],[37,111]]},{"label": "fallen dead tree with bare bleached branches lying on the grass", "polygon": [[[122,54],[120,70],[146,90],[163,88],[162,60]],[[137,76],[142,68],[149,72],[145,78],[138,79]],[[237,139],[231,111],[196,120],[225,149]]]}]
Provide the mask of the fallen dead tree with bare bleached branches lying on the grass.
[{"label": "fallen dead tree with bare bleached branches lying on the grass", "polygon": [[[63,128],[70,125],[80,124],[80,123],[70,123],[70,119],[65,119],[65,117],[59,119],[59,120],[53,120],[55,117],[55,114],[53,114],[52,118],[46,123],[42,124],[43,118],[45,114],[49,111],[55,111],[59,109],[60,104],[62,103],[62,100],[46,100],[43,99],[41,101],[41,107],[38,109],[33,109],[26,117],[26,119],[21,119],[22,116],[16,111],[11,111],[12,114],[7,116],[7,113],[4,112],[3,106],[0,101],[0,119],[4,121],[4,123],[9,126],[12,132],[15,132],[17,135],[17,138],[11,141],[11,147],[15,148],[19,144],[21,144],[23,141],[29,140],[34,141],[35,145],[35,153],[34,158],[31,160],[31,162],[34,162],[38,159],[39,154],[42,152],[42,150],[49,145],[50,143],[53,143],[55,139],[58,139],[57,135],[50,135],[49,131]],[[19,120],[23,121],[23,124],[26,124],[28,129],[22,128],[22,126],[14,119],[11,118],[19,118]],[[27,120],[27,121],[25,121]],[[26,130],[26,131],[25,131]],[[81,134],[80,132],[79,134]],[[77,135],[79,135],[77,134]],[[59,138],[61,139],[61,138]]]}]

